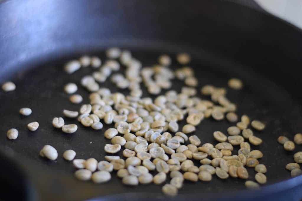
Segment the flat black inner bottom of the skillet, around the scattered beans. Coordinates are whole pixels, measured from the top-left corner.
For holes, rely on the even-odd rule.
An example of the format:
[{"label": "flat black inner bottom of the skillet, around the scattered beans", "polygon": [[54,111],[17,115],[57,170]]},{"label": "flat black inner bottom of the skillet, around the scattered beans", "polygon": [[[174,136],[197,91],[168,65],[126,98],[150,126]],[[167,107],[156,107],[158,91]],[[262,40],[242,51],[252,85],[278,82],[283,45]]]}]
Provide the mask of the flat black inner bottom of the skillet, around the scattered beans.
[{"label": "flat black inner bottom of the skillet, around the scattered beans", "polygon": [[[161,53],[168,53],[173,58],[172,69],[180,67],[175,62],[175,50],[173,49],[157,51],[156,49],[134,48],[132,52],[135,58],[142,61],[143,66],[155,64]],[[199,80],[197,87],[198,97],[209,99],[209,97],[202,96],[200,93],[201,86],[205,84],[227,88],[227,80],[229,78],[238,77],[243,80],[245,84],[243,90],[236,91],[227,88],[226,96],[238,106],[236,113],[239,117],[247,114],[251,120],[259,119],[267,125],[265,130],[261,132],[253,129],[255,136],[262,138],[263,143],[260,146],[251,145],[252,149],[259,149],[263,152],[264,156],[259,159],[259,162],[265,164],[268,169],[266,173],[268,183],[266,185],[289,179],[290,172],[285,170],[284,167],[287,163],[293,162],[293,154],[302,149],[300,146],[296,146],[293,152],[286,152],[283,146],[277,143],[277,137],[284,134],[292,139],[295,133],[302,130],[301,124],[299,124],[302,120],[300,105],[295,103],[281,87],[262,78],[261,75],[250,69],[244,69],[243,66],[236,64],[219,63],[217,62],[219,61],[218,59],[206,58],[206,55],[202,52],[190,53],[193,55],[190,66],[194,68],[195,76]],[[102,52],[91,52],[88,55],[98,55],[102,61],[106,59]],[[93,157],[98,161],[104,160],[104,155],[106,155],[104,145],[110,143],[110,140],[104,138],[104,131],[109,127],[113,127],[113,125],[104,124],[103,129],[96,131],[92,128],[85,128],[76,119],[64,118],[66,124],[76,123],[78,125],[76,133],[66,134],[61,130],[55,129],[51,124],[53,117],[62,116],[63,109],[79,110],[81,105],[69,102],[69,95],[63,91],[63,86],[66,83],[76,83],[79,87],[77,93],[84,98],[82,103],[88,103],[88,92],[80,85],[80,79],[84,75],[91,74],[94,69],[81,68],[72,75],[68,75],[63,71],[64,63],[69,59],[78,58],[78,56],[70,55],[51,59],[38,67],[34,66],[34,69],[28,71],[20,69],[18,71],[17,78],[13,80],[17,86],[16,90],[9,93],[1,92],[2,104],[0,112],[2,114],[2,127],[0,132],[6,133],[9,128],[14,127],[19,130],[19,137],[14,141],[2,137],[1,143],[6,149],[11,148],[14,150],[13,152],[17,153],[15,159],[20,159],[21,161],[25,161],[25,158],[28,159],[27,163],[30,165],[27,167],[28,169],[34,169],[34,171],[29,171],[34,184],[37,185],[38,191],[42,191],[42,194],[45,193],[43,192],[45,187],[50,187],[50,190],[58,193],[58,195],[62,196],[61,194],[63,194],[62,200],[70,198],[72,198],[70,200],[82,200],[93,196],[144,192],[152,193],[153,196],[162,196],[162,185],[150,184],[147,186],[127,187],[116,177],[116,172],[112,173],[111,181],[105,184],[77,181],[73,177],[75,168],[71,162],[67,162],[62,158],[63,152],[67,149],[73,149],[76,151],[76,158],[78,159]],[[124,67],[121,69],[124,69]],[[107,79],[100,86],[109,88],[111,92],[129,93],[128,90],[117,89],[112,85],[110,79]],[[150,96],[143,84],[141,86],[143,97]],[[184,86],[183,81],[174,79],[171,89],[179,93],[182,86]],[[161,94],[166,91],[163,90]],[[28,117],[23,117],[18,113],[21,107],[29,107],[33,110],[33,113]],[[40,123],[40,127],[35,132],[29,131],[26,127],[32,121]],[[180,128],[184,123],[184,121],[180,123]],[[202,144],[217,143],[213,138],[213,132],[220,130],[227,133],[226,129],[233,125],[226,120],[217,122],[212,118],[208,118],[202,121],[197,126],[197,130],[189,134],[189,136],[197,135],[200,137]],[[59,157],[55,162],[39,156],[39,151],[45,144],[50,144],[57,149]],[[120,156],[122,156],[122,150],[119,152]],[[237,150],[238,146],[235,146],[232,153],[237,154]],[[196,164],[199,164],[199,162]],[[36,171],[42,169],[47,172],[46,174],[50,173],[52,176],[45,176],[43,172]],[[249,180],[254,180],[254,169],[247,169],[249,171]],[[169,180],[166,182],[169,182]],[[49,184],[47,184],[48,182]],[[183,188],[179,190],[179,194],[232,193],[246,189],[244,182],[245,180],[235,178],[221,180],[217,176],[213,176],[213,180],[209,183],[185,181]],[[66,185],[69,187],[66,188]],[[75,194],[77,195],[76,198],[74,197]]]}]

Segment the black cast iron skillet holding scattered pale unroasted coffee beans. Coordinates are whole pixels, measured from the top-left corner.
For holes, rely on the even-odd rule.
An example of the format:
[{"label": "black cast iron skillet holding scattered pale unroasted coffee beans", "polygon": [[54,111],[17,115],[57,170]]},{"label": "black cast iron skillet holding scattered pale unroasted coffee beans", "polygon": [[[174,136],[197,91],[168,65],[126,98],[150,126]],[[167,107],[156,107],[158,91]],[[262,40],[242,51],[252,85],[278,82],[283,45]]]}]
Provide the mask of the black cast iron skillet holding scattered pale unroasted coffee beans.
[{"label": "black cast iron skillet holding scattered pale unroasted coffee beans", "polygon": [[[67,76],[62,71],[63,63],[84,53],[104,60],[101,51],[111,46],[132,50],[145,66],[154,64],[163,52],[174,58],[176,52],[188,52],[194,58],[191,66],[199,78],[198,88],[208,83],[226,87],[230,77],[239,77],[245,83],[244,90],[228,90],[227,97],[239,105],[239,115],[247,113],[267,124],[265,131],[255,132],[264,140],[257,149],[264,153],[260,162],[268,168],[267,185],[251,191],[245,189],[243,180],[222,181],[214,176],[208,184],[185,182],[176,200],[301,199],[302,176],[291,179],[284,168],[301,147],[285,152],[276,142],[281,134],[292,139],[302,130],[297,69],[302,63],[302,34],[291,24],[225,1],[113,0],[88,4],[16,0],[0,5],[0,27],[0,82],[13,80],[17,85],[13,92],[0,92],[0,179],[5,184],[0,190],[1,199],[169,199],[163,197],[161,186],[125,187],[115,174],[107,184],[76,181],[71,163],[61,157],[72,148],[77,158],[104,159],[103,147],[108,141],[102,134],[109,126],[101,132],[79,126],[75,134],[65,135],[50,122],[61,115],[63,108],[79,108],[68,102],[62,85],[92,72],[86,68]],[[177,67],[174,62],[172,68]],[[174,90],[179,92],[181,85],[173,80]],[[109,81],[104,87],[117,91]],[[82,88],[79,93],[84,97],[88,94]],[[18,114],[25,106],[33,109],[29,117]],[[31,121],[40,123],[34,133],[26,128]],[[203,143],[214,143],[213,131],[225,131],[230,125],[207,119],[194,134]],[[17,140],[5,137],[11,127],[19,130]],[[38,155],[47,143],[59,152],[56,162]],[[252,168],[249,173],[249,179],[253,179]]]}]

